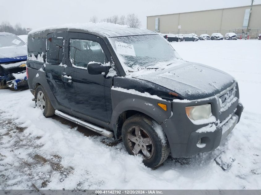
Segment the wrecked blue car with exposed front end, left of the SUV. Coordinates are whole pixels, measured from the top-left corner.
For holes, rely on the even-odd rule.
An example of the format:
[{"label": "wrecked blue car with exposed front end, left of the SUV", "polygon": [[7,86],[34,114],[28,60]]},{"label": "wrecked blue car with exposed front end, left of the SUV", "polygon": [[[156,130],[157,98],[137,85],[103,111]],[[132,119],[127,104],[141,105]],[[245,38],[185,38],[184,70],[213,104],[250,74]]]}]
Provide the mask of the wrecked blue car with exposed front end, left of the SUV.
[{"label": "wrecked blue car with exposed front end, left of the SUV", "polygon": [[27,86],[27,45],[16,35],[0,32],[0,89]]}]

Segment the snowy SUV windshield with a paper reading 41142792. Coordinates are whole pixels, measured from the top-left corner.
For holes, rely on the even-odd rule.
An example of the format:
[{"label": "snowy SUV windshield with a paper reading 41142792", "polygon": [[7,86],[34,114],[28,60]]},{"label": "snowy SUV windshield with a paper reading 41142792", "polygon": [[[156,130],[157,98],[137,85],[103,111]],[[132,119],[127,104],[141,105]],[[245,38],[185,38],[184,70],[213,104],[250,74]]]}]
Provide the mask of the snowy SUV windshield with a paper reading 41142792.
[{"label": "snowy SUV windshield with a paper reading 41142792", "polygon": [[[109,38],[125,71],[158,68],[179,58],[161,35],[136,35]],[[161,65],[159,65],[161,64]]]}]

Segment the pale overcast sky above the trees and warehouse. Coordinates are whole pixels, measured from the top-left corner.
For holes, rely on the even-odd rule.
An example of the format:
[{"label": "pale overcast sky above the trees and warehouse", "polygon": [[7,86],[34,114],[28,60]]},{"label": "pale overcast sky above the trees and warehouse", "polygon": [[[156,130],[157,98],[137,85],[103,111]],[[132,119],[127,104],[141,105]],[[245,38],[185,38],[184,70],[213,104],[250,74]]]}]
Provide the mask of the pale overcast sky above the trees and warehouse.
[{"label": "pale overcast sky above the trees and warehouse", "polygon": [[[2,1],[2,0],[1,0]],[[66,23],[89,22],[96,15],[137,14],[141,27],[146,16],[250,5],[251,0],[7,0],[1,3],[0,22],[20,23],[32,29]],[[254,4],[261,4],[255,0]]]}]

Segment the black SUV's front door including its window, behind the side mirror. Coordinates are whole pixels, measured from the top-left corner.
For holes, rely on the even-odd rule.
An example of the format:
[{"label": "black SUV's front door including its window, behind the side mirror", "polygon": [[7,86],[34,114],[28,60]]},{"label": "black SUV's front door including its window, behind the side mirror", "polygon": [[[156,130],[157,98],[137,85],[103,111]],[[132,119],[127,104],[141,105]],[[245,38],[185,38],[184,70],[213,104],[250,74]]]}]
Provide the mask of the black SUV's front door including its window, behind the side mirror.
[{"label": "black SUV's front door including its window, behind the side mirror", "polygon": [[66,53],[68,67],[65,73],[73,74],[73,88],[65,87],[72,112],[108,122],[107,112],[112,110],[111,94],[105,91],[111,88],[112,77],[90,75],[87,71],[88,63],[111,63],[105,43],[94,35],[68,32]]}]

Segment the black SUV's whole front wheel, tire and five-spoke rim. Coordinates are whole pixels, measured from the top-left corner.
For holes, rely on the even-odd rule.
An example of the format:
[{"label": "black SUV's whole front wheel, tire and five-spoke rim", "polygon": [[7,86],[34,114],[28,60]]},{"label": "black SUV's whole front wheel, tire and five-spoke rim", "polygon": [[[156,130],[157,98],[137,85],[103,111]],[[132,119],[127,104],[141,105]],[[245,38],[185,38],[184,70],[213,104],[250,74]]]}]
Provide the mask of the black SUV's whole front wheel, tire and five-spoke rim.
[{"label": "black SUV's whole front wheel, tire and five-spoke rim", "polygon": [[122,127],[122,140],[128,153],[131,155],[141,154],[144,165],[150,168],[160,166],[170,154],[166,137],[164,144],[155,132],[155,128],[158,127],[161,128],[160,124],[143,114],[129,117]]}]

